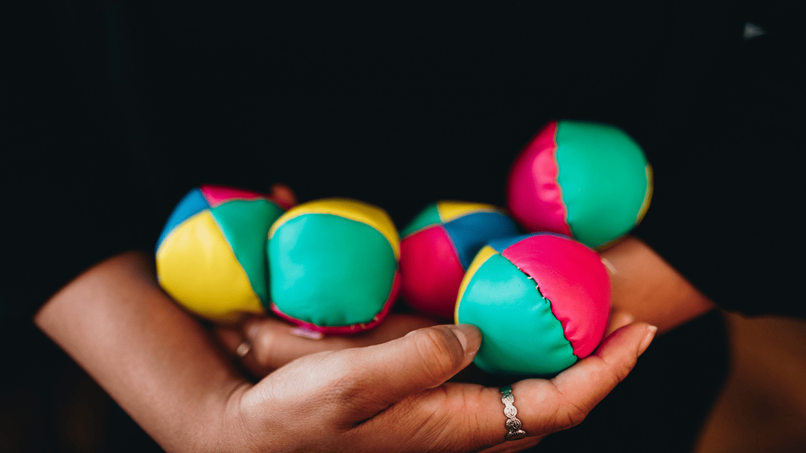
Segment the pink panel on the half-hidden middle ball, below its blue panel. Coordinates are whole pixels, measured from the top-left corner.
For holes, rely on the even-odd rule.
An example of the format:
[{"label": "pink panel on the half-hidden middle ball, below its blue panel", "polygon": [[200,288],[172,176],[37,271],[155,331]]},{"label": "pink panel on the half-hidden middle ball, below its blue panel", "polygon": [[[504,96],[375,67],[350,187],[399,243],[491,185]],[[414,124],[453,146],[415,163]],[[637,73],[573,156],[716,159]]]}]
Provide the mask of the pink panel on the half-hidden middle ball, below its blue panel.
[{"label": "pink panel on the half-hidden middle ball, below its blue panel", "polygon": [[401,295],[411,307],[451,319],[464,270],[441,225],[401,241]]}]

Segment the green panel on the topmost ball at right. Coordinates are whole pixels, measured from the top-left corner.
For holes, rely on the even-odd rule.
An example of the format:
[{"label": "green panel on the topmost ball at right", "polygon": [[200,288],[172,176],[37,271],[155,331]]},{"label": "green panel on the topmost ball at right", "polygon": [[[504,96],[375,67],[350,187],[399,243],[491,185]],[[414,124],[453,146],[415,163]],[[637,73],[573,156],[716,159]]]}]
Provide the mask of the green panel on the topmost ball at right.
[{"label": "green panel on the topmost ball at right", "polygon": [[599,247],[633,229],[642,210],[646,157],[624,131],[583,121],[559,121],[558,182],[577,241]]}]

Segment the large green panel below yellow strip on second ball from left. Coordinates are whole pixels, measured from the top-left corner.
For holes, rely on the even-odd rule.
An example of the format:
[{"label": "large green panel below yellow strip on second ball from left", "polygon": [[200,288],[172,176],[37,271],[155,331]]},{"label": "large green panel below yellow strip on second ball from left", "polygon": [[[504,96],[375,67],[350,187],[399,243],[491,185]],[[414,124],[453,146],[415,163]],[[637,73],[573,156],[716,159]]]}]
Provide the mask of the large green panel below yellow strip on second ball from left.
[{"label": "large green panel below yellow strip on second ball from left", "polygon": [[332,214],[293,217],[268,241],[272,302],[318,326],[368,323],[389,297],[397,260],[368,224]]}]

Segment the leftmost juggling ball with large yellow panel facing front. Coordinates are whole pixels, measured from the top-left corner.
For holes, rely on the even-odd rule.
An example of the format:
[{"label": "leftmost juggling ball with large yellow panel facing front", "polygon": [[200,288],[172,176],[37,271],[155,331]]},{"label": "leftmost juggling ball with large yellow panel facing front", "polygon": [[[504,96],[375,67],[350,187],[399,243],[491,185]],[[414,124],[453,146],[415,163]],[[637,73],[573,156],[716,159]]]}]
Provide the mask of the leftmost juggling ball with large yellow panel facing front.
[{"label": "leftmost juggling ball with large yellow panel facing front", "polygon": [[160,286],[181,306],[215,321],[264,313],[268,229],[284,212],[268,196],[234,187],[194,188],[156,245]]}]

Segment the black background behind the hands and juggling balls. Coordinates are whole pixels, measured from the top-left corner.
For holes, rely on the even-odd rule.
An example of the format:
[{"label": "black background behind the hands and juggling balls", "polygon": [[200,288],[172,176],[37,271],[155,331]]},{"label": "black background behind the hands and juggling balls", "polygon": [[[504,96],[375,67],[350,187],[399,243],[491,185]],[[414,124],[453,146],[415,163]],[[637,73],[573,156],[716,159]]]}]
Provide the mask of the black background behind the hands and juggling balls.
[{"label": "black background behind the hands and juggling balls", "polygon": [[[144,448],[28,319],[98,259],[151,249],[189,188],[283,182],[301,200],[378,204],[402,228],[434,200],[504,204],[509,164],[552,118],[612,123],[642,144],[656,186],[636,233],[718,305],[804,316],[790,283],[803,270],[792,257],[803,251],[804,47],[785,8],[2,8],[3,237],[9,256],[25,256],[4,265],[0,322],[15,371],[2,402],[15,408],[3,413],[19,451],[68,451],[64,433],[82,429],[92,448]],[[744,39],[748,22],[767,33]],[[725,376],[722,328],[704,319],[659,339],[624,391],[632,396],[613,395],[599,417],[675,388],[659,400],[667,410],[638,418],[651,428],[633,427],[629,445],[673,435],[667,451],[685,450]],[[93,396],[71,399],[82,392]],[[85,422],[67,429],[69,420]],[[663,423],[675,429],[657,430]]]}]

